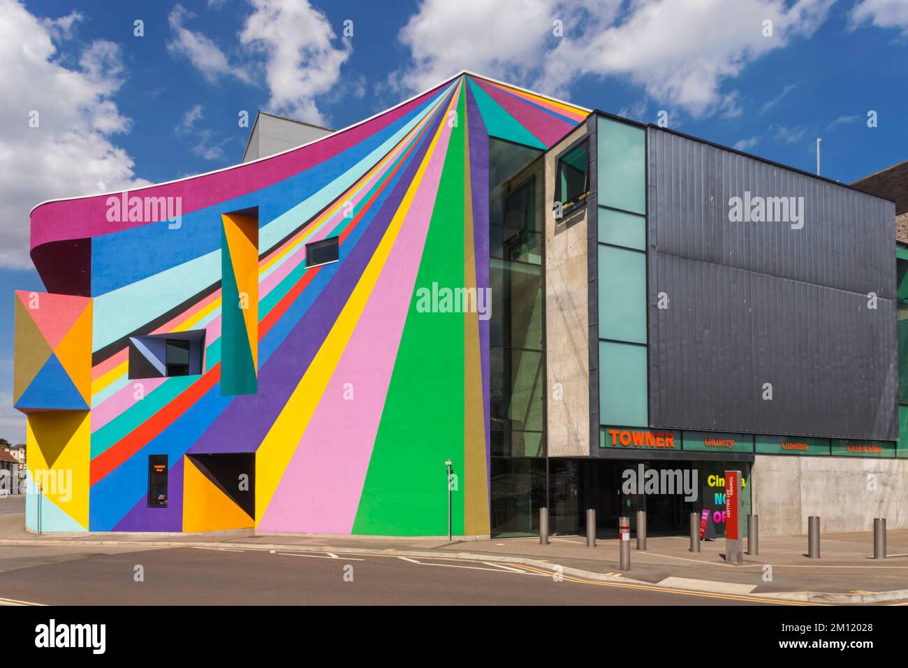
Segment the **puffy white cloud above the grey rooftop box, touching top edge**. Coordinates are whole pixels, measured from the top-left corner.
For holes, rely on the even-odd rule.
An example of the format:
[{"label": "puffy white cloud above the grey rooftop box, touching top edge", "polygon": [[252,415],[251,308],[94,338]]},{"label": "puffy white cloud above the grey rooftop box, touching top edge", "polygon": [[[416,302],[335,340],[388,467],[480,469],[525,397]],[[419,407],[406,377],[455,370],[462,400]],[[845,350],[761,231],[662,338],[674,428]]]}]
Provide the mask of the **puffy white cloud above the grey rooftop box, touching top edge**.
[{"label": "puffy white cloud above the grey rooftop box, touching top edge", "polygon": [[264,56],[269,111],[327,125],[315,98],[339,85],[350,41],[336,46],[328,18],[306,0],[251,1],[255,11],[246,19],[240,42]]}]

